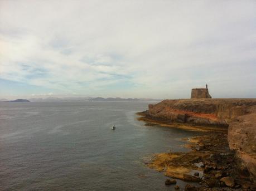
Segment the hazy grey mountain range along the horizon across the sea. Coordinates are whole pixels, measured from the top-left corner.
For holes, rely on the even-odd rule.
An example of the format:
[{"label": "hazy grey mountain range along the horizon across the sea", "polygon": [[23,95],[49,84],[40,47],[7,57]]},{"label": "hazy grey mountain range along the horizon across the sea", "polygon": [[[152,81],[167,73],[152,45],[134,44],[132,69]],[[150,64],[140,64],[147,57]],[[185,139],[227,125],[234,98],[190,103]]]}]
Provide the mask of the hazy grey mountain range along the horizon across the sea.
[{"label": "hazy grey mountain range along the horizon across the sea", "polygon": [[26,99],[17,99],[17,100],[7,100],[0,99],[0,102],[65,102],[65,101],[160,101],[156,99],[147,99],[147,98],[121,98],[121,97],[46,97],[46,98],[31,98]]}]

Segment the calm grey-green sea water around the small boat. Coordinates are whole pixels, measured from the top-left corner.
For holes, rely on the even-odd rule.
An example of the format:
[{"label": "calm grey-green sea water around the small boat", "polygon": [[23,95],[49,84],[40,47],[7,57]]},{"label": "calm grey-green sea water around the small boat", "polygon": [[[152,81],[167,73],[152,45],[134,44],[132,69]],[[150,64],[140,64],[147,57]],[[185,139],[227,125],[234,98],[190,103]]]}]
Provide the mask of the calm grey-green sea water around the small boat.
[{"label": "calm grey-green sea water around the small boat", "polygon": [[[173,190],[143,161],[199,133],[145,126],[148,102],[0,103],[0,190]],[[117,129],[111,130],[115,124]],[[178,180],[182,187],[186,183]]]}]

